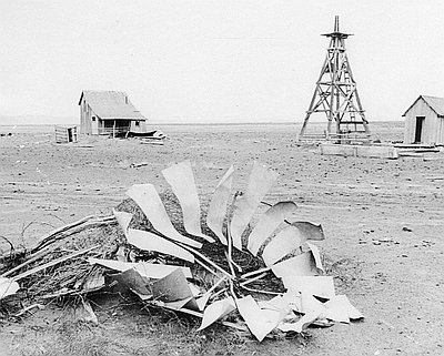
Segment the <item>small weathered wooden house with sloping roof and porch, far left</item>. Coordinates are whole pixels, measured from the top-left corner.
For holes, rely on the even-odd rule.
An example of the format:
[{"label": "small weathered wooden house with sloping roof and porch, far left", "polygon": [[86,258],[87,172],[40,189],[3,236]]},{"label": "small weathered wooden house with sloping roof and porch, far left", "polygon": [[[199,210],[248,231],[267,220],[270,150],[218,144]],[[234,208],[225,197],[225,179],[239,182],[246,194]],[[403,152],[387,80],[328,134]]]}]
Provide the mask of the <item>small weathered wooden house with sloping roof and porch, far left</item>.
[{"label": "small weathered wooden house with sloping roof and porch, far left", "polygon": [[80,95],[80,133],[122,135],[147,132],[147,118],[120,91],[84,90]]}]

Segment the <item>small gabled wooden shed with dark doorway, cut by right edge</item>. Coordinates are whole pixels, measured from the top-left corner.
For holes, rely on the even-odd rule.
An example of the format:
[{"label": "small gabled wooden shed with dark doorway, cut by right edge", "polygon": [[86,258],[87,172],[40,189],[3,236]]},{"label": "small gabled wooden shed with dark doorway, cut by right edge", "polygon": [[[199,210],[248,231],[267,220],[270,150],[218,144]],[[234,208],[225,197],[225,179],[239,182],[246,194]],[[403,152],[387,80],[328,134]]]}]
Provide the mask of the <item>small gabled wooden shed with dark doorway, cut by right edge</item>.
[{"label": "small gabled wooden shed with dark doorway, cut by right edge", "polygon": [[444,98],[420,95],[403,116],[404,143],[444,144]]}]

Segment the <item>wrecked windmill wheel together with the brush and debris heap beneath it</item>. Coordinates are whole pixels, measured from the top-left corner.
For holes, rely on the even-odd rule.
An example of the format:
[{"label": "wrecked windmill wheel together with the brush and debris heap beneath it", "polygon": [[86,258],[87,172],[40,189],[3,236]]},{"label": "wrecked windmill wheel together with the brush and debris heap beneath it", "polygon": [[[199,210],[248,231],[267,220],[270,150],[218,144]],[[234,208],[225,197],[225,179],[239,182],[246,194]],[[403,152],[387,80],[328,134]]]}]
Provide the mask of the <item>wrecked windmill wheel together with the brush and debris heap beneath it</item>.
[{"label": "wrecked windmill wheel together with the brush and debris heap beneath it", "polygon": [[80,295],[97,322],[88,293],[111,279],[147,305],[201,318],[199,330],[221,323],[259,340],[363,317],[325,275],[314,243],[324,240],[321,225],[289,221],[295,203],[266,204],[252,226],[276,172],[254,163],[245,192],[233,193],[231,166],[205,214],[189,161],[162,173],[174,195],[133,185],[113,216],[85,217],[0,256],[0,305],[20,291],[39,301]]}]

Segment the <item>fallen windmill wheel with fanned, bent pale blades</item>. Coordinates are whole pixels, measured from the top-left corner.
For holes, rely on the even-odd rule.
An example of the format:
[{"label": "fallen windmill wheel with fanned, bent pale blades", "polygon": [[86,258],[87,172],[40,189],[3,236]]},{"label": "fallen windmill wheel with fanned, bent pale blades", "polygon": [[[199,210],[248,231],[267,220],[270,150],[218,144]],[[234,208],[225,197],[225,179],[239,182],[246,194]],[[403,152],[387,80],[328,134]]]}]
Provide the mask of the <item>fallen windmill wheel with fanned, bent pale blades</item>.
[{"label": "fallen windmill wheel with fanned, bent pale blades", "polygon": [[[133,228],[138,225],[133,214],[114,211],[114,216],[107,218],[107,222],[119,223],[127,242],[124,247],[134,247],[130,250],[130,254],[115,254],[114,257],[121,258],[119,261],[90,257],[89,264],[87,263],[90,269],[84,278],[75,282],[74,288],[68,292],[56,291],[44,297],[69,295],[79,288],[83,288],[84,293],[98,291],[104,285],[103,273],[107,268],[118,272],[110,275],[113,283],[132,291],[145,305],[202,318],[199,330],[213,323],[221,323],[240,330],[248,327],[262,340],[274,329],[301,333],[311,324],[330,326],[332,321],[347,323],[362,317],[344,296],[335,295],[333,278],[324,275],[319,248],[313,244],[313,241],[324,240],[322,226],[309,222],[292,222],[291,215],[296,210],[293,202],[279,202],[270,206],[253,226],[253,215],[275,182],[278,173],[254,163],[246,191],[238,196],[232,193],[234,169],[228,170],[214,190],[206,214],[206,225],[219,241],[208,236],[206,232],[211,232],[201,225],[202,212],[191,163],[179,163],[164,170],[163,174],[179,200],[183,221],[170,218],[165,207],[169,205],[163,204],[153,185],[133,185],[128,195],[150,222],[150,231]],[[176,215],[174,218],[180,220]],[[71,227],[77,228],[89,223],[87,220]],[[184,235],[174,227],[179,223],[183,225]],[[248,234],[249,225],[253,228]],[[59,231],[61,232],[63,230]],[[243,246],[242,236],[246,237],[246,246]],[[50,244],[52,238],[43,241]],[[201,250],[203,244],[211,247]],[[243,254],[249,254],[250,262],[256,260],[253,271],[242,265],[240,254],[233,254],[233,246]],[[42,248],[50,251],[48,247]],[[9,286],[13,293],[17,292],[19,285],[14,278],[24,283],[24,277],[29,274],[57,267],[64,261],[83,256],[87,251],[50,261],[11,279],[1,279],[0,298],[1,291]],[[151,260],[152,255],[160,255],[161,258]],[[134,262],[144,256],[150,256],[151,262],[158,263],[143,260]],[[221,261],[221,256],[225,260]],[[225,271],[226,264],[230,272]],[[264,264],[266,267],[263,268]],[[94,265],[103,268],[94,268]],[[242,272],[243,268],[246,273]],[[211,276],[210,282],[205,279],[198,285],[199,274],[202,273],[215,277]],[[259,289],[255,284],[258,281],[261,286],[270,283],[270,289],[273,291]],[[276,289],[276,283],[281,285],[280,289]],[[8,288],[2,289],[2,285]],[[287,292],[284,293],[285,288]],[[274,297],[255,301],[249,295],[250,292]],[[89,318],[97,323],[91,305],[87,299],[82,302]],[[235,312],[244,324],[225,321],[229,314]]]}]

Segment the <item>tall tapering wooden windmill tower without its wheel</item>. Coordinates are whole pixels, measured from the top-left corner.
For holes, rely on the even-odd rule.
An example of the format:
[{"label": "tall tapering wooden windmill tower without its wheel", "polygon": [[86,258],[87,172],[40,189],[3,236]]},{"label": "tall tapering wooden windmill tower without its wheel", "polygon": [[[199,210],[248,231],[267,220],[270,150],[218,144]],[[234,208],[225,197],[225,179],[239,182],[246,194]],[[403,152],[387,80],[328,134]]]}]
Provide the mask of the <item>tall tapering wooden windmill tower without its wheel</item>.
[{"label": "tall tapering wooden windmill tower without its wheel", "polygon": [[[336,16],[334,31],[323,35],[330,38],[330,45],[300,138],[303,138],[313,113],[325,113],[327,139],[350,138],[353,133],[369,136],[369,122],[361,105],[344,44],[344,40],[352,34],[340,32],[340,20]],[[332,128],[333,121],[334,128]]]}]

